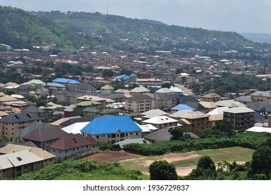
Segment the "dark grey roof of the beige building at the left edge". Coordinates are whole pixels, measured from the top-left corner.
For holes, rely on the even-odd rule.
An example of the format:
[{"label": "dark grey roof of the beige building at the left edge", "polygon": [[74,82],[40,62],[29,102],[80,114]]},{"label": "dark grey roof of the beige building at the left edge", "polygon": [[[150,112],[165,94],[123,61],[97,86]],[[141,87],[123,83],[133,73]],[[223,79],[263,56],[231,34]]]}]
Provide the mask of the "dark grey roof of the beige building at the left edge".
[{"label": "dark grey roof of the beige building at the left edge", "polygon": [[32,113],[19,113],[19,114],[9,114],[0,119],[0,122],[3,123],[18,123],[26,121],[36,121],[40,120],[40,117],[35,116]]}]

